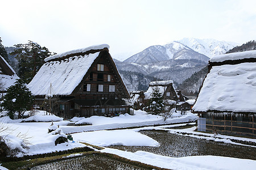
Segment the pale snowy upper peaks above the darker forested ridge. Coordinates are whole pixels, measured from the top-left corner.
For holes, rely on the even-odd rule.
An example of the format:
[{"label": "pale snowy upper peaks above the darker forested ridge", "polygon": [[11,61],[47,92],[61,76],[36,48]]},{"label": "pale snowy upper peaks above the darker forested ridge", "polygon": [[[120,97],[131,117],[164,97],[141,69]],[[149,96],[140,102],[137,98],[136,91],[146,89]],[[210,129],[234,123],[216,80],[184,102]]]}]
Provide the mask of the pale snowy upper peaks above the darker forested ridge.
[{"label": "pale snowy upper peaks above the darker forested ridge", "polygon": [[224,54],[234,48],[236,42],[218,41],[214,39],[184,38],[166,45],[154,45],[134,54],[123,62],[151,63],[168,59],[198,59],[208,62],[209,58]]}]

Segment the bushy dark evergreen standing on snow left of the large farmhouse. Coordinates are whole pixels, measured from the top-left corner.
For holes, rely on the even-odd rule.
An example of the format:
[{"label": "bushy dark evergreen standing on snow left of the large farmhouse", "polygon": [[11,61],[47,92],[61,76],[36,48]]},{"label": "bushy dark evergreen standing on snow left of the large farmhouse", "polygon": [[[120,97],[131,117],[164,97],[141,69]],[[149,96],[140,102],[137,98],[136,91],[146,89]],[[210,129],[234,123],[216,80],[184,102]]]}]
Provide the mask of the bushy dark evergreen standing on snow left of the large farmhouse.
[{"label": "bushy dark evergreen standing on snow left of the large farmhouse", "polygon": [[21,79],[17,79],[13,86],[7,88],[1,106],[8,112],[11,119],[18,112],[18,118],[22,118],[25,111],[32,107],[33,96]]}]

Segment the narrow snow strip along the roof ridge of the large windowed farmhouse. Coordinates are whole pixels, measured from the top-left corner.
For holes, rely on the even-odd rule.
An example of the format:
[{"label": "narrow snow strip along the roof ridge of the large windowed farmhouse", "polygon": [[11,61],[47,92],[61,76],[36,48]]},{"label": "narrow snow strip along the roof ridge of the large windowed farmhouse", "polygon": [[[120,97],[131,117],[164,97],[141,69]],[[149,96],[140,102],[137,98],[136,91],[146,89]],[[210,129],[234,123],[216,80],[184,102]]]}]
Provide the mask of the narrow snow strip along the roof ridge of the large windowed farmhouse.
[{"label": "narrow snow strip along the roof ridge of the large windowed farmhouse", "polygon": [[104,49],[104,48],[108,48],[109,49],[109,45],[108,44],[93,45],[93,46],[89,46],[89,47],[86,47],[86,48],[71,50],[69,52],[55,54],[53,56],[47,57],[47,58],[44,59],[44,61],[47,62],[47,61],[49,61],[51,59],[61,58],[61,57],[67,56],[69,54],[83,53],[83,52],[87,52],[89,50],[97,50],[97,49]]}]

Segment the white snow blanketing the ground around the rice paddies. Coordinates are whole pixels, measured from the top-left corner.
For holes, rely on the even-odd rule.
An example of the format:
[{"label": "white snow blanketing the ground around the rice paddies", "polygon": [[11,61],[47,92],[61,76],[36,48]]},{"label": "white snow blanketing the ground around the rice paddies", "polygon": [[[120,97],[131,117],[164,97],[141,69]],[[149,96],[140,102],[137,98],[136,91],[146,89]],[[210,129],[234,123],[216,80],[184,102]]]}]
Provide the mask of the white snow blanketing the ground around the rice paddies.
[{"label": "white snow blanketing the ground around the rice paddies", "polygon": [[[168,156],[160,156],[152,154],[150,152],[137,151],[127,152],[113,148],[107,148],[110,145],[124,145],[124,146],[153,146],[158,147],[158,141],[147,137],[139,133],[140,130],[156,129],[156,130],[168,130],[170,133],[186,132],[191,137],[203,138],[207,140],[213,140],[216,142],[234,143],[230,139],[239,139],[242,141],[256,142],[256,139],[237,138],[225,135],[199,133],[195,128],[189,129],[166,129],[173,128],[177,125],[165,125],[172,123],[182,123],[196,120],[195,114],[187,113],[187,115],[181,116],[176,113],[174,118],[168,118],[166,122],[160,116],[152,114],[146,114],[142,111],[134,111],[135,115],[129,114],[120,115],[118,117],[98,117],[92,116],[90,118],[73,118],[72,121],[75,124],[91,124],[86,126],[67,126],[71,121],[63,121],[63,118],[46,115],[45,112],[39,111],[35,116],[24,120],[10,120],[8,117],[1,117],[1,126],[9,127],[12,131],[3,131],[0,135],[6,135],[6,139],[9,139],[9,145],[12,147],[19,147],[20,142],[17,141],[16,136],[21,137],[23,134],[28,140],[29,148],[24,151],[26,155],[42,154],[52,151],[68,150],[75,147],[84,147],[85,145],[80,142],[90,143],[96,146],[105,147],[101,152],[108,152],[116,154],[130,160],[136,160],[142,163],[155,165],[156,167],[169,168],[169,169],[253,169],[256,167],[255,160],[249,159],[237,159],[227,158],[221,156],[187,156],[184,158],[172,158]],[[180,116],[180,117],[178,117]],[[22,121],[35,121],[35,122],[22,122]],[[65,134],[73,133],[72,137],[74,142],[62,143],[55,146],[55,139],[58,137],[48,133],[48,128],[53,121],[54,125],[59,125],[60,129]],[[148,126],[144,128],[134,129],[120,129],[138,126]],[[162,126],[151,126],[162,125]],[[182,124],[181,124],[182,125]],[[115,129],[115,130],[107,130]],[[11,133],[11,134],[9,134]],[[7,135],[8,134],[8,135]],[[204,134],[204,137],[199,137],[199,134]],[[23,137],[24,137],[23,136]],[[241,145],[238,143],[234,143]],[[17,156],[22,156],[18,154]],[[242,166],[242,167],[241,167]]]}]

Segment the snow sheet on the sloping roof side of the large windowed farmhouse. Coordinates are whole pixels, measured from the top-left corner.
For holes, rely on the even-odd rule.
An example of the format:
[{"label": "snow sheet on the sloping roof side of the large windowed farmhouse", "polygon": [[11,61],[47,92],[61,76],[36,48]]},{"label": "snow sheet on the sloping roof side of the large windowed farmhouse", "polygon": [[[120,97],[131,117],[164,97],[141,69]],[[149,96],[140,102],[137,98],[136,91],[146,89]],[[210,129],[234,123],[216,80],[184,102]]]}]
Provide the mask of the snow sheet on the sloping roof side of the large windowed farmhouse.
[{"label": "snow sheet on the sloping roof side of the large windowed farmhouse", "polygon": [[47,95],[52,84],[52,95],[70,95],[99,53],[44,63],[28,84],[28,88],[33,95]]}]

